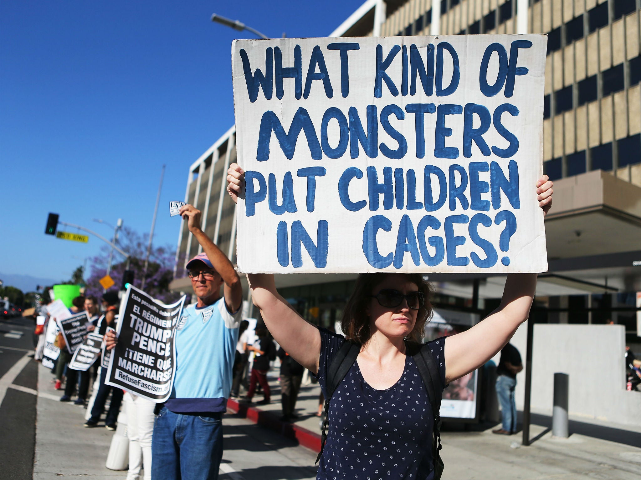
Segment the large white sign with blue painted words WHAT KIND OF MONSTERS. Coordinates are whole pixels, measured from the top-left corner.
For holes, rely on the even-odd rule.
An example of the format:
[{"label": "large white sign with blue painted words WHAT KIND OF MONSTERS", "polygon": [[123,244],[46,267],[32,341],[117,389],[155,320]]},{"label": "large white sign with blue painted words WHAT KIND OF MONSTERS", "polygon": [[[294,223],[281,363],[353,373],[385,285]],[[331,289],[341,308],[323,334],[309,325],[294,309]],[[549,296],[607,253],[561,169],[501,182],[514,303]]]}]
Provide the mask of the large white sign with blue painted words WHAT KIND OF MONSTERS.
[{"label": "large white sign with blue painted words WHAT KIND OF MONSTERS", "polygon": [[542,272],[544,35],[235,40],[238,266]]}]

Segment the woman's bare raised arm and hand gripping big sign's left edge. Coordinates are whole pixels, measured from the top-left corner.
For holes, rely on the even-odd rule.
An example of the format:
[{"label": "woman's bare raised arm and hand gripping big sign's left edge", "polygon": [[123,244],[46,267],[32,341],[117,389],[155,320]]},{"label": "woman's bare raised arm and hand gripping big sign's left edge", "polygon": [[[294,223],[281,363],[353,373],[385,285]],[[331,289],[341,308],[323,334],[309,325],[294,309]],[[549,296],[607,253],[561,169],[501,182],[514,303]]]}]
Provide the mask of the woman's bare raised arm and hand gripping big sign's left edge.
[{"label": "woman's bare raised arm and hand gripping big sign's left edge", "polygon": [[[229,165],[227,191],[234,202],[244,198],[245,172],[237,163]],[[274,339],[285,351],[313,373],[318,371],[320,356],[320,333],[312,324],[304,321],[287,301],[276,291],[274,275],[249,273],[247,281],[254,305],[260,309]]]}]

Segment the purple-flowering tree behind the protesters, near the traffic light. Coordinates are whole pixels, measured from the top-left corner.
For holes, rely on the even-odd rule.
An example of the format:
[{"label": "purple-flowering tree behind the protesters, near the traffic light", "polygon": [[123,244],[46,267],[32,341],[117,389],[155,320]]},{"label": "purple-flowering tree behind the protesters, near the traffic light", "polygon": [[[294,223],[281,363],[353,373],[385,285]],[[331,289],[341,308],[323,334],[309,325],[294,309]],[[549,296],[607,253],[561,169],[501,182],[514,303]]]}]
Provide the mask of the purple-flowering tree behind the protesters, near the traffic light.
[{"label": "purple-flowering tree behind the protesters, near the traffic light", "polygon": [[[147,252],[148,234],[138,234],[129,227],[122,228],[118,239],[118,246],[129,254],[129,269],[135,272],[133,285],[140,288],[142,285],[142,273],[145,265],[145,256]],[[106,275],[107,264],[109,261],[108,246],[101,248],[100,255],[97,255],[90,261],[89,271],[91,276],[87,278],[87,287],[85,294],[95,295],[98,298],[103,294],[103,287],[99,280]],[[171,246],[157,246],[152,248],[149,255],[149,264],[147,265],[147,275],[144,291],[165,303],[172,303],[178,300],[177,292],[169,291],[169,283],[174,278],[173,268],[176,253],[172,251]],[[122,275],[126,269],[127,262],[118,252],[113,252],[112,269],[109,275],[112,277],[115,285],[110,290],[117,291],[122,284]]]}]

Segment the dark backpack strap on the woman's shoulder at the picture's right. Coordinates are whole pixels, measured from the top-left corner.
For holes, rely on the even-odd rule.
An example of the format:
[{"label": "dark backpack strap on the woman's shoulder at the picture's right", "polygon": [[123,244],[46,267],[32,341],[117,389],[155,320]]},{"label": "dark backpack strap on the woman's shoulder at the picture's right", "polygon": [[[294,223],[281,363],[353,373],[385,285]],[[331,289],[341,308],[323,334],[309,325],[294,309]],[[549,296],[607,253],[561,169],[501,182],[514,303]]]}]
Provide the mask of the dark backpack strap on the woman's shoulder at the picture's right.
[{"label": "dark backpack strap on the woman's shoulder at the picture's right", "polygon": [[434,442],[432,444],[432,455],[434,461],[435,478],[440,478],[443,472],[443,461],[440,458],[440,404],[443,392],[443,386],[440,380],[437,362],[428,350],[428,344],[408,344],[408,352],[412,352],[412,358],[419,369],[420,378],[422,378],[425,389],[428,392],[429,404],[432,407],[434,417]]}]

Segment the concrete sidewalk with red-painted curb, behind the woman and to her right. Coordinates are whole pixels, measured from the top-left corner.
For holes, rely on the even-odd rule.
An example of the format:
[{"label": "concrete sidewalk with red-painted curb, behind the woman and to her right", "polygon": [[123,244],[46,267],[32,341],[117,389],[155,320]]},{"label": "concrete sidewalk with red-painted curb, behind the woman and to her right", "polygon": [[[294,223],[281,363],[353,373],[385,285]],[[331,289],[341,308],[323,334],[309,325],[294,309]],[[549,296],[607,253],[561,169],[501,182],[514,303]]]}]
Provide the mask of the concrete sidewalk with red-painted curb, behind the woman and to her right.
[{"label": "concrete sidewalk with red-painted curb, behind the woman and to her right", "polygon": [[[267,428],[296,438],[302,445],[318,451],[320,446],[318,409],[319,385],[301,387],[296,412],[299,419],[291,426],[281,416],[278,370],[268,375],[272,403],[242,406],[240,415]],[[254,400],[260,400],[257,394]],[[229,401],[228,410],[237,411],[238,403]],[[494,435],[494,425],[446,424],[442,431],[443,480],[629,480],[641,477],[641,433],[624,426],[570,419],[570,437],[553,438],[551,419],[532,415],[531,445],[521,445],[522,436]],[[315,439],[315,440],[313,440]]]}]

